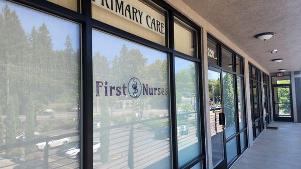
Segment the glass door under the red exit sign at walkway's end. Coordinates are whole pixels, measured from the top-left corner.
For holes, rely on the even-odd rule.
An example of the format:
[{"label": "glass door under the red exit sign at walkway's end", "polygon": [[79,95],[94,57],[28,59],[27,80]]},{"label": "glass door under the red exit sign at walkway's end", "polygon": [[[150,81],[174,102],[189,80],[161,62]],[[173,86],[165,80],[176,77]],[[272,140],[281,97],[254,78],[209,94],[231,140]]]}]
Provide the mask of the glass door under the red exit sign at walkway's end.
[{"label": "glass door under the red exit sign at walkway's end", "polygon": [[275,121],[293,121],[290,84],[273,85]]}]

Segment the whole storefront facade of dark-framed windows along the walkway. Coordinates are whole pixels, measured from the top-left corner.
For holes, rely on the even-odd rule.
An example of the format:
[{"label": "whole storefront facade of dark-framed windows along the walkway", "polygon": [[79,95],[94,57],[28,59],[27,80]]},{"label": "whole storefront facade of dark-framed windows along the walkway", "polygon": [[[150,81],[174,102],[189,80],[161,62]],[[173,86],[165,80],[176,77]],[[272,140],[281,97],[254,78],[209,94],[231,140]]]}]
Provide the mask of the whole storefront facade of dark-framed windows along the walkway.
[{"label": "whole storefront facade of dark-framed windows along the walkway", "polygon": [[182,3],[0,0],[0,168],[231,166],[269,72]]}]

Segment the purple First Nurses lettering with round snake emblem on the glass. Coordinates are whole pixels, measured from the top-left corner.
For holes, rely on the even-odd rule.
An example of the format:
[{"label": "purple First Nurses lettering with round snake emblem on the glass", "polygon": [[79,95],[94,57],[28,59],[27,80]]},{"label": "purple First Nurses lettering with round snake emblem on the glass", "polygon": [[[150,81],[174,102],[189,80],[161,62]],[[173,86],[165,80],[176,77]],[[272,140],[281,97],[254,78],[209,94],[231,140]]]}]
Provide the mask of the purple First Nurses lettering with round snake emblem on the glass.
[{"label": "purple First Nurses lettering with round snake emblem on the glass", "polygon": [[168,95],[168,88],[156,87],[147,83],[141,83],[136,77],[129,79],[127,85],[110,85],[108,81],[96,81],[96,97],[104,96],[127,96],[138,98],[140,95]]}]

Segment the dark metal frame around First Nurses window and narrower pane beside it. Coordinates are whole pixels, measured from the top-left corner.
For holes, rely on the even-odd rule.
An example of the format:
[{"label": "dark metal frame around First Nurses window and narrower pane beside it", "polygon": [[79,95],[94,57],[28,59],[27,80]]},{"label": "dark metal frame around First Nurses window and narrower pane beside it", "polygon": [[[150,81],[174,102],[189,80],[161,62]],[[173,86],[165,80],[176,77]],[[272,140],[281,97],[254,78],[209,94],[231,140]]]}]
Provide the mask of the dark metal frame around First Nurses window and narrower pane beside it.
[{"label": "dark metal frame around First Nurses window and narrower pane beside it", "polygon": [[[81,141],[81,168],[93,168],[93,86],[92,83],[92,29],[97,29],[116,35],[118,37],[158,49],[168,54],[169,62],[169,87],[170,87],[170,112],[175,112],[176,97],[175,97],[175,57],[184,58],[196,63],[197,67],[197,85],[198,85],[198,104],[199,104],[199,118],[200,118],[200,129],[201,129],[201,154],[192,159],[190,162],[182,166],[181,168],[190,168],[195,164],[202,162],[203,168],[206,168],[206,148],[205,148],[205,124],[204,124],[204,112],[203,112],[203,91],[202,91],[202,47],[201,47],[201,27],[191,21],[188,17],[177,11],[167,2],[161,0],[150,0],[158,6],[165,9],[167,12],[166,22],[166,45],[161,45],[145,38],[139,37],[132,33],[126,32],[119,28],[113,27],[109,24],[103,23],[92,18],[92,6],[91,0],[81,0],[78,3],[78,11],[76,12],[71,9],[65,8],[58,4],[52,3],[47,0],[10,0],[55,16],[62,17],[81,25],[81,126],[80,126],[80,141]],[[79,0],[77,0],[79,2]],[[174,48],[174,30],[173,22],[174,16],[181,19],[183,22],[193,27],[196,30],[196,48],[197,56],[193,57],[179,51]],[[83,113],[85,112],[85,113]],[[177,150],[177,123],[175,113],[170,113],[170,125],[171,125],[171,159],[172,167],[178,168],[178,150]]]}]

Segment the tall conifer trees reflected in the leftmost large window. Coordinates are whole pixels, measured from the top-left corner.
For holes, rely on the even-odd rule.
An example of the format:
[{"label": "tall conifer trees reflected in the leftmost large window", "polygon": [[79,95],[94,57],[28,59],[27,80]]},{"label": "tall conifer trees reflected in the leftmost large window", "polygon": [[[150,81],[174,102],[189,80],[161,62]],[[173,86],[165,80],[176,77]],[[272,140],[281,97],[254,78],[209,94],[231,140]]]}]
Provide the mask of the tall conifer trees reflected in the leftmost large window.
[{"label": "tall conifer trees reflected in the leftmost large window", "polygon": [[[38,29],[33,27],[27,35],[17,12],[8,4],[0,13],[0,36],[0,77],[4,84],[0,93],[5,103],[0,106],[0,117],[7,115],[6,142],[14,143],[16,134],[22,132],[31,141],[34,132],[45,125],[37,122],[36,116],[47,104],[69,102],[64,110],[78,106],[79,51],[73,49],[69,35],[65,50],[55,50],[46,23]],[[20,114],[26,115],[25,122],[19,121]],[[3,130],[0,118],[0,143]],[[26,153],[33,150],[33,145],[30,146],[26,147]]]}]

